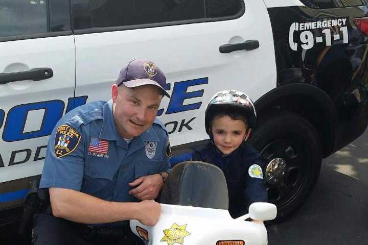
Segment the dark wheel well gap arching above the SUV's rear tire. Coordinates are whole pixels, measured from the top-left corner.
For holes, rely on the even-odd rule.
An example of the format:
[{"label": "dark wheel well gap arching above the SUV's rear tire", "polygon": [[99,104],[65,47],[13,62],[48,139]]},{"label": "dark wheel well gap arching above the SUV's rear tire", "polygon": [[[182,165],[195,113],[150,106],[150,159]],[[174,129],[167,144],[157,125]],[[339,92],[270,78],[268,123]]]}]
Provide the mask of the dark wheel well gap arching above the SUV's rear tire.
[{"label": "dark wheel well gap arching above the SUV's rear tire", "polygon": [[282,96],[262,108],[257,108],[257,125],[267,120],[270,114],[290,111],[307,119],[316,129],[323,157],[331,154],[334,145],[334,124],[333,119],[326,108],[312,97],[303,94],[290,94]]}]

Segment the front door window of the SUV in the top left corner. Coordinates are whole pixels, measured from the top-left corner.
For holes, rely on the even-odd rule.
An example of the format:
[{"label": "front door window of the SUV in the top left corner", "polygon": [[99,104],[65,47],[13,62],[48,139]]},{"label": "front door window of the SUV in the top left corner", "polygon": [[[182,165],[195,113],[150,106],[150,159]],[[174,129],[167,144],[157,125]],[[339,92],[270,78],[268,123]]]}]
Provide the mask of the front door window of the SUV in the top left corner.
[{"label": "front door window of the SUV in the top left corner", "polygon": [[0,38],[68,30],[68,1],[0,0]]}]

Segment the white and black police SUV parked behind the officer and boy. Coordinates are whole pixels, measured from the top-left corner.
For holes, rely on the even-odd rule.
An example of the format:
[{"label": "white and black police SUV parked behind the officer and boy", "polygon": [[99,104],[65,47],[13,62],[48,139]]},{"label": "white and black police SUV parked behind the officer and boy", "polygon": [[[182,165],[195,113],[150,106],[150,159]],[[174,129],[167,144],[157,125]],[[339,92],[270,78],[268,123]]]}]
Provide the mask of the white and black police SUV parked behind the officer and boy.
[{"label": "white and black police SUV parked behind the officer and boy", "polygon": [[250,142],[266,162],[268,198],[287,216],[321,158],[367,126],[366,2],[0,0],[0,224],[19,218],[58,119],[108,100],[134,58],[167,75],[171,99],[158,116],[174,156],[208,139],[215,92],[255,101]]}]

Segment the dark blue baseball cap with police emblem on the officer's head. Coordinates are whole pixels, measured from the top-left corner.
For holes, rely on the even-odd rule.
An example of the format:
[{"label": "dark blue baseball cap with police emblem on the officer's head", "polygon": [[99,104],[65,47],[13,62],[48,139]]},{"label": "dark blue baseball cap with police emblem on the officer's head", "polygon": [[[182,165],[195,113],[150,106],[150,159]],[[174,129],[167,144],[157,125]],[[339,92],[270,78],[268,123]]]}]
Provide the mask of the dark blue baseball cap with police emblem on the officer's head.
[{"label": "dark blue baseball cap with police emblem on the officer's head", "polygon": [[148,84],[155,85],[170,98],[170,95],[165,90],[166,77],[164,72],[149,60],[130,61],[127,66],[121,69],[116,84],[118,86],[124,84],[127,88]]}]

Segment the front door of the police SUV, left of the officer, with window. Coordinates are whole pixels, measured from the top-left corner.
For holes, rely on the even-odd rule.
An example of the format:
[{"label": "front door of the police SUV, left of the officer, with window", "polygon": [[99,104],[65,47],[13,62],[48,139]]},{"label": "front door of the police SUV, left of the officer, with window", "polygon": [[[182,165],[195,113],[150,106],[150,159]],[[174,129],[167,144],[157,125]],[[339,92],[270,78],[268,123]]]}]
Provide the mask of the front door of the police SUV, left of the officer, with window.
[{"label": "front door of the police SUV, left of the officer, with window", "polygon": [[48,135],[71,106],[69,13],[68,1],[0,1],[0,186],[11,181],[0,207],[22,202],[29,179],[12,180],[41,174]]}]

